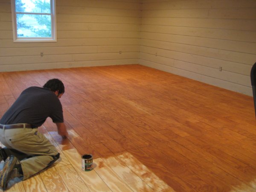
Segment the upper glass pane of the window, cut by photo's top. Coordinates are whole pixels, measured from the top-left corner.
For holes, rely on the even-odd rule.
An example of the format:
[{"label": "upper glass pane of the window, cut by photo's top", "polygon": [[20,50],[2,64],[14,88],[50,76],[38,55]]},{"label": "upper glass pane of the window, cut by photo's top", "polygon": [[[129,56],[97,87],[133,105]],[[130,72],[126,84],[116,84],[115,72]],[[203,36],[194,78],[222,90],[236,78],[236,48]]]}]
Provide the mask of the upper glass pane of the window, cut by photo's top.
[{"label": "upper glass pane of the window, cut by photo's top", "polygon": [[51,13],[51,0],[15,0],[16,12]]}]

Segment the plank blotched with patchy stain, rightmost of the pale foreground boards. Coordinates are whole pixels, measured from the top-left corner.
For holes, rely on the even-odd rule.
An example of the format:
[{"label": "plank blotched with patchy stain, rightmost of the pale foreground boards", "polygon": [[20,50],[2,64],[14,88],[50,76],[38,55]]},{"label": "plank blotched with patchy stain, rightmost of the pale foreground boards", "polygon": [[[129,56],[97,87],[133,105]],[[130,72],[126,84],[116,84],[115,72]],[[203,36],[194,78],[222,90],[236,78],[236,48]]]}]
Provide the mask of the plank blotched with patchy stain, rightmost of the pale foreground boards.
[{"label": "plank blotched with patchy stain, rightmost of the pale foreground boards", "polygon": [[154,189],[154,191],[175,191],[130,153],[123,153],[117,157],[132,169],[148,186]]}]

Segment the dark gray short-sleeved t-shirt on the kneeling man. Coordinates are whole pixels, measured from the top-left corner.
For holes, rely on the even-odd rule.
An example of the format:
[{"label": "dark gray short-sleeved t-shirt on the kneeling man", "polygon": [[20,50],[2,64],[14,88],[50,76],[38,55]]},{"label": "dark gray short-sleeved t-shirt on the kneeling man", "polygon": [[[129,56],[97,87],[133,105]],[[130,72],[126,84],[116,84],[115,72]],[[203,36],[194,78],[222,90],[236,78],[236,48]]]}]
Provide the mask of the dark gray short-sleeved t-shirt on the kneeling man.
[{"label": "dark gray short-sleeved t-shirt on the kneeling man", "polygon": [[60,100],[53,91],[47,88],[29,87],[6,111],[0,124],[28,123],[32,125],[32,128],[37,128],[45,122],[47,117],[55,123],[64,122]]}]

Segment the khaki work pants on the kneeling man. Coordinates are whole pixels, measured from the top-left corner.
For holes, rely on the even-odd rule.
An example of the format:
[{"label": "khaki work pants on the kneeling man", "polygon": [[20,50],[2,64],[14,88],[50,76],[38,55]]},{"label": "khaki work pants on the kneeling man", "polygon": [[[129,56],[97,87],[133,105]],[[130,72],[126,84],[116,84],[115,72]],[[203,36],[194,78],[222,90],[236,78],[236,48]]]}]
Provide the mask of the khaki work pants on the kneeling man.
[{"label": "khaki work pants on the kneeling man", "polygon": [[6,146],[8,156],[14,155],[20,161],[23,180],[58,159],[56,148],[37,128],[0,129],[0,142]]}]

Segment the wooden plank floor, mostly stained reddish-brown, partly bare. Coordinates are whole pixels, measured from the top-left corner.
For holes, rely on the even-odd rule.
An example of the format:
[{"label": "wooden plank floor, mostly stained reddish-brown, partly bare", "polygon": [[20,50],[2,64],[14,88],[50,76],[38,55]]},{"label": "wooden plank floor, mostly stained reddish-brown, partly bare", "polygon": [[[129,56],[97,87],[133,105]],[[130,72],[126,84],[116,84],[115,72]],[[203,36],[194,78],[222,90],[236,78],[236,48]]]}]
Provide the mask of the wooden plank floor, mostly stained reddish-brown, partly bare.
[{"label": "wooden plank floor, mostly stained reddish-brown, partly bare", "polygon": [[[59,78],[69,137],[39,129],[61,152],[8,191],[256,191],[253,98],[141,65],[0,73],[0,115],[29,86]],[[95,169],[81,171],[81,154]]]}]

